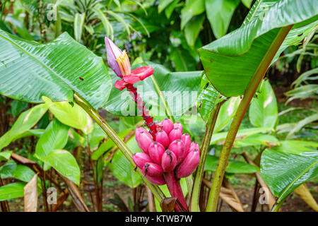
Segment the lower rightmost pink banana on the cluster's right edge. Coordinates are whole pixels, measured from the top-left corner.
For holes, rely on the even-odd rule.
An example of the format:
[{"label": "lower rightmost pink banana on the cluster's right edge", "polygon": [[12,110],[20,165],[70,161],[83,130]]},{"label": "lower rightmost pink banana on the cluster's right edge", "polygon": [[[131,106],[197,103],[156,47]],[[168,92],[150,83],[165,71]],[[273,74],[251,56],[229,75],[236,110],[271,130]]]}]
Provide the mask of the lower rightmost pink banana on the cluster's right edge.
[{"label": "lower rightmost pink banana on the cluster's right edge", "polygon": [[200,155],[199,150],[190,151],[184,158],[183,162],[176,169],[176,177],[189,177],[194,172],[194,169],[199,165]]}]

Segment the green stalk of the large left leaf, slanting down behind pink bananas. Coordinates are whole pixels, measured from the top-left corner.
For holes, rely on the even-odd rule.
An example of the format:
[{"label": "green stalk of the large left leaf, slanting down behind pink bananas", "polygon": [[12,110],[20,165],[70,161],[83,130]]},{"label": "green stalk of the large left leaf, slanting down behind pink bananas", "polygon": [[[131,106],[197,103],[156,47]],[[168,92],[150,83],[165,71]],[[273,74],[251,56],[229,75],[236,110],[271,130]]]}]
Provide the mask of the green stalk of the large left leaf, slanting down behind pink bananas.
[{"label": "green stalk of the large left leaf, slanting down behind pink bananas", "polygon": [[[98,112],[96,112],[92,107],[90,107],[88,105],[88,103],[86,103],[86,101],[83,100],[77,93],[74,93],[73,97],[74,97],[74,101],[76,102],[76,104],[81,106],[90,115],[90,117],[92,117],[92,119],[94,119],[96,121],[96,123],[100,126],[100,128],[103,131],[105,131],[107,136],[114,142],[114,144],[117,145],[119,150],[122,151],[122,153],[124,154],[126,159],[131,163],[131,165],[135,165],[135,163],[131,157],[132,156],[131,150],[129,150],[126,143],[124,143],[124,141],[122,141],[122,139],[106,123],[106,121],[104,121],[104,119],[102,119],[100,117]],[[150,182],[148,182],[148,180],[143,177],[143,174],[139,169],[137,169],[137,172],[141,176],[141,178],[143,178],[143,182],[145,182],[145,184],[148,186],[148,188],[151,189],[155,198],[157,198],[159,202],[162,201],[163,198],[165,198],[163,191],[161,191],[158,188],[158,186],[155,186],[155,185],[151,184]]]}]

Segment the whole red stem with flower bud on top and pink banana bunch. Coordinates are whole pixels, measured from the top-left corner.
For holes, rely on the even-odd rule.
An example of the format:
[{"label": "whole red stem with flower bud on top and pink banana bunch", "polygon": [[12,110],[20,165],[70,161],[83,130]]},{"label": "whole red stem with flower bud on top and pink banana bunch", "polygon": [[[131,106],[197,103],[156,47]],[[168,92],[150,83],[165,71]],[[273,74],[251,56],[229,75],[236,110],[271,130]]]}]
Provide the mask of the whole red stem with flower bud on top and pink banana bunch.
[{"label": "whole red stem with flower bud on top and pink banana bunch", "polygon": [[[142,66],[131,71],[125,51],[119,49],[108,37],[105,37],[105,46],[107,63],[114,73],[122,78],[116,81],[114,87],[118,90],[126,88],[129,91],[149,128],[149,131],[141,127],[136,129],[135,138],[143,153],[133,155],[134,163],[152,184],[167,184],[171,196],[176,197],[181,206],[188,210],[180,179],[189,177],[199,165],[199,145],[191,142],[189,134],[183,133],[181,123],[173,124],[170,119],[158,124],[153,122],[153,117],[149,115],[149,110],[134,87],[134,83],[151,76],[153,68]],[[177,205],[175,210],[181,211]]]}]

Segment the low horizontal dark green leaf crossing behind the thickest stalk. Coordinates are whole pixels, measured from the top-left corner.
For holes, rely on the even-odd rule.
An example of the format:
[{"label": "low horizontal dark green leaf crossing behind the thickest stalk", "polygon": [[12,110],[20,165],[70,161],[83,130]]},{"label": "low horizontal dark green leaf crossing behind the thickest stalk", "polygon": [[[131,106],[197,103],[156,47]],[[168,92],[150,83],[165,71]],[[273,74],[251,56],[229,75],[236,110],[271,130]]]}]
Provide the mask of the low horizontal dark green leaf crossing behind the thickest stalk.
[{"label": "low horizontal dark green leaf crossing behind the thickest stalk", "polygon": [[[206,156],[206,165],[204,165],[204,170],[215,171],[217,165],[218,165],[218,157],[214,155]],[[259,171],[259,167],[250,165],[246,162],[240,162],[237,160],[229,160],[228,166],[225,169],[225,172],[234,173],[234,174],[252,174],[258,171]]]}]

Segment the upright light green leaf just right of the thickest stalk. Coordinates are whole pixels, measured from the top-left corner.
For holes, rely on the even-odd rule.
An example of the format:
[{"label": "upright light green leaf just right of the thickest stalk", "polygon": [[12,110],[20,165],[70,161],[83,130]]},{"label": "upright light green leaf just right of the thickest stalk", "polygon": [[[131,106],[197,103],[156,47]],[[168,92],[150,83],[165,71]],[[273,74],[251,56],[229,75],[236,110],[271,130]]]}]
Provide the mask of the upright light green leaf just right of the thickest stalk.
[{"label": "upright light green leaf just right of the thickest stalk", "polygon": [[273,128],[278,119],[278,107],[271,84],[268,80],[261,84],[260,93],[249,106],[249,121],[253,126]]}]

